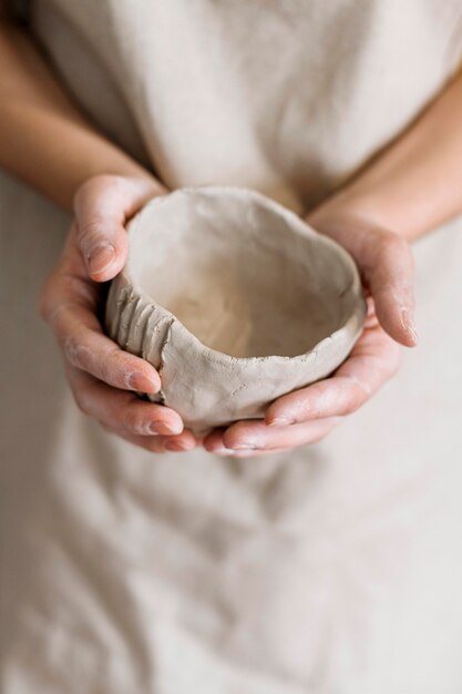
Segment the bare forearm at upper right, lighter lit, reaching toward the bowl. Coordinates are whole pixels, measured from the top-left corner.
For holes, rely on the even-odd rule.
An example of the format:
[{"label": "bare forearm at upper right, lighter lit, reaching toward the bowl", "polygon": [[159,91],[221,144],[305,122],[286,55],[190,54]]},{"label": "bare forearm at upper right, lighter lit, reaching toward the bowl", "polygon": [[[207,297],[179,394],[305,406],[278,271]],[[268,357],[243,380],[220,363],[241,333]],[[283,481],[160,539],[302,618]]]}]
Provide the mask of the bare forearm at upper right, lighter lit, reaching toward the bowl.
[{"label": "bare forearm at upper right, lighter lit, reaching toward the bowl", "polygon": [[361,216],[413,241],[462,213],[462,73],[418,121],[326,208]]}]

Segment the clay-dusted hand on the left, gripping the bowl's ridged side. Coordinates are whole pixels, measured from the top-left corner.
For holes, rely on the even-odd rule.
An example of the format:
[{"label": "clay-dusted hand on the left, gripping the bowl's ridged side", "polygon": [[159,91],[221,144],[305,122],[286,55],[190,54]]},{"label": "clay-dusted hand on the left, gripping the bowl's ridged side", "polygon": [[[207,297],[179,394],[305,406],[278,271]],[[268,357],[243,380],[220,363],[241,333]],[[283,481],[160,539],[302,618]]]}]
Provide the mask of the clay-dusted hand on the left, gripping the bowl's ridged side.
[{"label": "clay-dusted hand on the left, gripping the bowl's ridged side", "polygon": [[123,267],[125,224],[151,197],[165,191],[150,177],[95,176],[74,197],[75,220],[61,259],[40,299],[42,317],[63,350],[68,379],[79,408],[109,431],[150,451],[182,451],[196,446],[174,410],[141,400],[155,394],[157,371],[123,351],[102,330],[101,284]]}]

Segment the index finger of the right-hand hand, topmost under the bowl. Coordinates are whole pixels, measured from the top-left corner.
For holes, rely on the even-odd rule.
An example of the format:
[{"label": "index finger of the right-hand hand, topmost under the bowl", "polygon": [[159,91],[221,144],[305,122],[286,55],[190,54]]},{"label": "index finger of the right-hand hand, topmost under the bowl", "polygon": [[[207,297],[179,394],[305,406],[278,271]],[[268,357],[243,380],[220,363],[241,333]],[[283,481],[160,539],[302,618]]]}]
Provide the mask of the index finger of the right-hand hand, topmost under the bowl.
[{"label": "index finger of the right-hand hand, topmost under the bowl", "polygon": [[268,407],[270,427],[349,415],[393,376],[400,347],[379,325],[363,331],[351,355],[330,377],[289,392]]}]

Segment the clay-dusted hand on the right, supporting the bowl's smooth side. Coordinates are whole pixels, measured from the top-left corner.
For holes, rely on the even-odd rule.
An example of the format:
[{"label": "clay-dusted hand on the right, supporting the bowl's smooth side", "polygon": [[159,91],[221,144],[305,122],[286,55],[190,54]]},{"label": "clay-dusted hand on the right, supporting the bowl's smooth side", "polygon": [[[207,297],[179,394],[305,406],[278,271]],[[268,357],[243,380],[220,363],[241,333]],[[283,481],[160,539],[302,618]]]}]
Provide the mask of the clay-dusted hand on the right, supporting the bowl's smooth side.
[{"label": "clay-dusted hand on the right, supporting the bowl's smooth side", "polygon": [[396,374],[398,343],[417,345],[409,244],[345,210],[320,208],[307,222],[335,238],[356,259],[368,302],[363,331],[347,360],[329,378],[278,398],[264,420],[243,420],[215,429],[204,440],[212,452],[251,457],[321,440]]}]

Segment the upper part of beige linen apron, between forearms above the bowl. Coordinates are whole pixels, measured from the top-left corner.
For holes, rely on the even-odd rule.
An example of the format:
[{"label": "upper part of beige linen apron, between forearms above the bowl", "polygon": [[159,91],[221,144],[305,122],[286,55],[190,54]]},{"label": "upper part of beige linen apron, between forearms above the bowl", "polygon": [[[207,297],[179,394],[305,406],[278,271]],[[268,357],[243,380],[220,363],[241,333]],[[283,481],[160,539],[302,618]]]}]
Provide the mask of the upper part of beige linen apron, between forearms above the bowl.
[{"label": "upper part of beige linen apron, between forearms above the bowl", "polygon": [[170,187],[248,185],[300,210],[397,136],[462,55],[459,0],[32,0],[31,30]]}]

